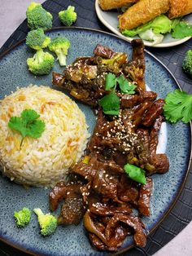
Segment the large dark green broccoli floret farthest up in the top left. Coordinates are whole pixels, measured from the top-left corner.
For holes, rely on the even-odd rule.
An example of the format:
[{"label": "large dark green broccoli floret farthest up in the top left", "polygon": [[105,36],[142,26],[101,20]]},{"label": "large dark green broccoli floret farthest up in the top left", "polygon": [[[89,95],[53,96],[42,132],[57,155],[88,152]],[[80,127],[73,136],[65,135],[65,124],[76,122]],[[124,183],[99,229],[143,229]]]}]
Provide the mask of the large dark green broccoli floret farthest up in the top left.
[{"label": "large dark green broccoli floret farthest up in the top left", "polygon": [[53,16],[46,11],[41,4],[32,2],[26,11],[28,28],[33,29],[51,29]]}]

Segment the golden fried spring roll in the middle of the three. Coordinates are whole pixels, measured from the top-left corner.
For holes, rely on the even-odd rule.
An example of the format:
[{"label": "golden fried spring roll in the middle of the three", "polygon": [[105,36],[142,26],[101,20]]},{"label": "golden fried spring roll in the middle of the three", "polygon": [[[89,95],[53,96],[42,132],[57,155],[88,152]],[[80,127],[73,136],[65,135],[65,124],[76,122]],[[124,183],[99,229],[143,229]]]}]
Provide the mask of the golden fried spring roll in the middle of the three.
[{"label": "golden fried spring roll in the middle of the three", "polygon": [[[191,0],[190,0],[191,1]],[[169,0],[140,0],[119,15],[120,30],[134,29],[167,12]]]}]

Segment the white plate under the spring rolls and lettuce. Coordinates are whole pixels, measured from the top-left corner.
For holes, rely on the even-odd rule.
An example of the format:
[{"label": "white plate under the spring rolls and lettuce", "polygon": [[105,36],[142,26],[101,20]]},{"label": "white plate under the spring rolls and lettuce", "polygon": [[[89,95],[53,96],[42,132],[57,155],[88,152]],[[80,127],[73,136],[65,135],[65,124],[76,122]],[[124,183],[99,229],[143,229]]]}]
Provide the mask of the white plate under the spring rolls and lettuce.
[{"label": "white plate under the spring rolls and lettuce", "polygon": [[[112,11],[102,11],[102,9],[98,5],[98,0],[95,1],[95,10],[98,15],[98,19],[113,33],[116,33],[121,38],[124,38],[125,40],[131,42],[134,38],[138,37],[125,37],[122,33],[120,33],[120,30],[118,29],[118,19],[117,16],[119,13],[116,10]],[[187,20],[190,24],[192,24],[192,15],[186,15],[185,20]],[[145,46],[151,46],[151,47],[170,47],[170,46],[177,46],[183,42],[186,42],[191,37],[183,38],[183,39],[174,39],[172,38],[171,34],[168,33],[164,36],[163,42],[153,45],[152,42],[143,40]]]}]

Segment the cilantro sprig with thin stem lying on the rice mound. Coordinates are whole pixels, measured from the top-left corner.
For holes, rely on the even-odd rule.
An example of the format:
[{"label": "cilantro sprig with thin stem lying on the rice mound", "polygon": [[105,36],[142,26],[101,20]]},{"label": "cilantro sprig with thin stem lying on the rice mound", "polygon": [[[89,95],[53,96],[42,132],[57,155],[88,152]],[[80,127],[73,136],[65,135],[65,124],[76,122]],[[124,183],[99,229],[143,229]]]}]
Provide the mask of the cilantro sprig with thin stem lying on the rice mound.
[{"label": "cilantro sprig with thin stem lying on the rice mound", "polygon": [[20,147],[26,136],[37,139],[41,137],[42,132],[45,130],[46,124],[44,121],[37,120],[40,117],[33,109],[24,109],[20,117],[11,117],[8,122],[11,130],[17,130],[22,136]]}]

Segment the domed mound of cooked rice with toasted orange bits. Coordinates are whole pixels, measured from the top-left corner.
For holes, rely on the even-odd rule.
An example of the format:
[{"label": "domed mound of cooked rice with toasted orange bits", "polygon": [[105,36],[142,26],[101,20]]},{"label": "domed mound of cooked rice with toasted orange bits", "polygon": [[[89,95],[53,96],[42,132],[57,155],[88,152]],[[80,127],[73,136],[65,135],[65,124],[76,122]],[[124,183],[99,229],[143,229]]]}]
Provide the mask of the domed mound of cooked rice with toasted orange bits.
[{"label": "domed mound of cooked rice with toasted orange bits", "polygon": [[[38,139],[8,127],[11,117],[33,109],[46,129]],[[52,187],[66,179],[68,169],[81,159],[89,133],[85,115],[67,95],[46,86],[30,85],[0,101],[0,165],[16,183]]]}]

